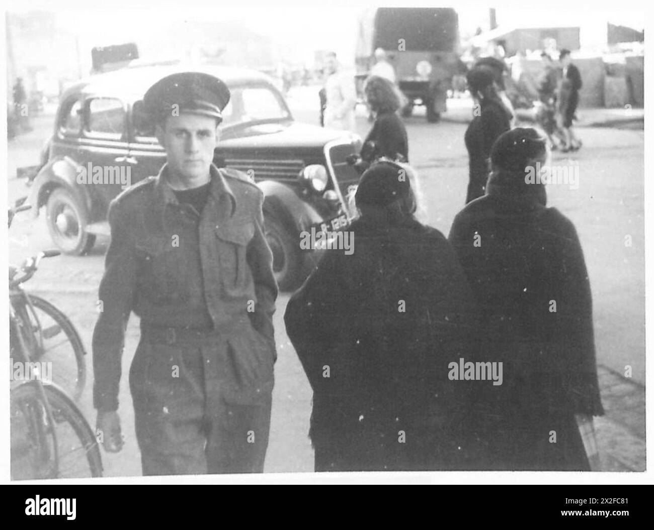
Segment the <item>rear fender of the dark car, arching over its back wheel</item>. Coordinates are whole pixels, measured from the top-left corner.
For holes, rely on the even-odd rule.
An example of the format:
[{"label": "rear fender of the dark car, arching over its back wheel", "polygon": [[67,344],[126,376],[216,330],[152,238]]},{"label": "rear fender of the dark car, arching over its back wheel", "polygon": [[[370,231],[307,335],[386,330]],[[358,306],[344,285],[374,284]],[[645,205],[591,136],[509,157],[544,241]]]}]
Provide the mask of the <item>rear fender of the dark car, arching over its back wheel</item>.
[{"label": "rear fender of the dark car, arching over its back wheel", "polygon": [[27,199],[32,206],[32,217],[39,215],[41,206],[48,202],[50,192],[58,187],[70,191],[86,212],[92,211],[91,196],[77,183],[77,167],[78,164],[70,157],[56,157],[41,168],[31,185]]}]

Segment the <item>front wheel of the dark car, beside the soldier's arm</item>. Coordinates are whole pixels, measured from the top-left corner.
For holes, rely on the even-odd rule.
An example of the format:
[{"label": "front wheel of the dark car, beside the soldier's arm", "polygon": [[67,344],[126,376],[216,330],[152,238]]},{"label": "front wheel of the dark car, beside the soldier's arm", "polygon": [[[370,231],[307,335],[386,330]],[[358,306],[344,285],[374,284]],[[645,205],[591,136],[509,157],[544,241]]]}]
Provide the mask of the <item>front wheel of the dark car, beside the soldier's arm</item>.
[{"label": "front wheel of the dark car, beside the soldier's arm", "polygon": [[273,251],[273,272],[280,290],[293,290],[300,283],[300,242],[275,217],[266,216],[266,241]]}]

